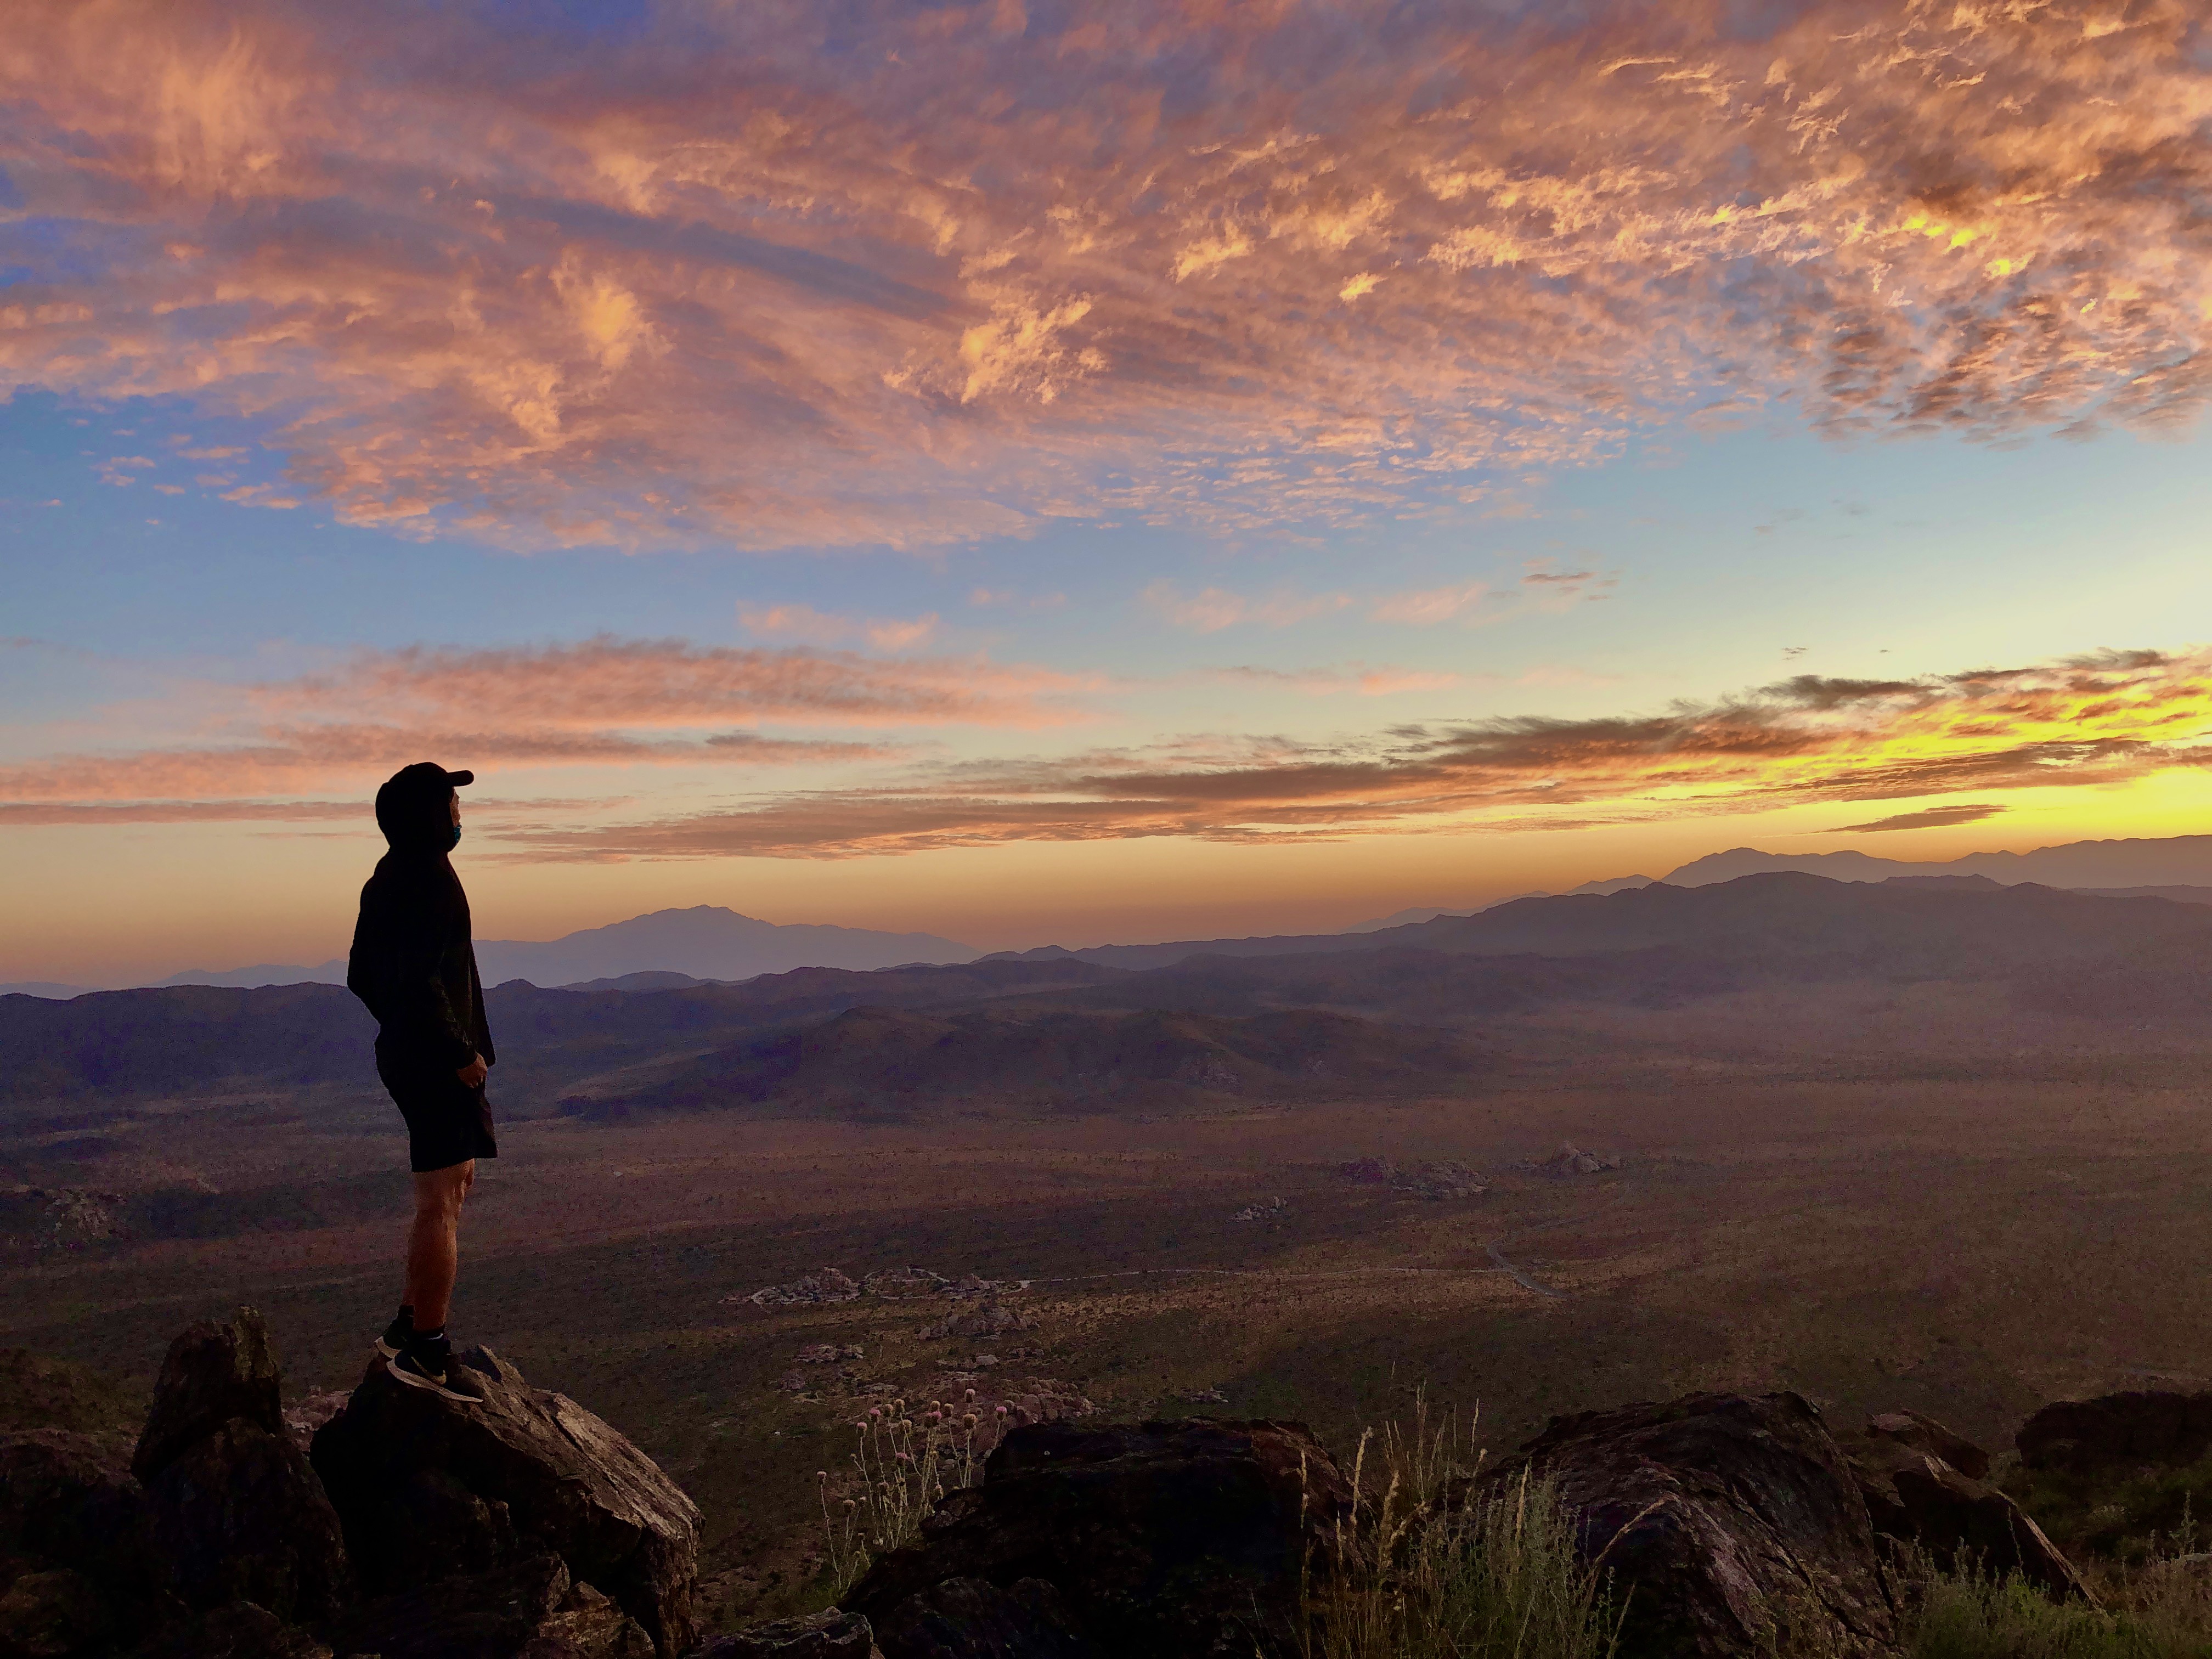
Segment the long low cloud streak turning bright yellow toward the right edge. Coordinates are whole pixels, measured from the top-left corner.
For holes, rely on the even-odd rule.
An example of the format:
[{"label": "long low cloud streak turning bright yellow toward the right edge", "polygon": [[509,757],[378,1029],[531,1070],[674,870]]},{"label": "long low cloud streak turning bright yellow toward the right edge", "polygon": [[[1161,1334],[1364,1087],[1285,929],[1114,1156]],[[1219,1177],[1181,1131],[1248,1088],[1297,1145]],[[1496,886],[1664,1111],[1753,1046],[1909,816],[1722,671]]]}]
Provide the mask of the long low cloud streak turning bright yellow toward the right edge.
[{"label": "long low cloud streak turning bright yellow toward the right edge", "polygon": [[[522,858],[849,858],[1006,841],[1568,827],[2086,787],[2212,765],[2212,653],[2115,653],[1909,681],[1803,675],[1663,714],[1400,726],[964,765],[743,812],[513,830]],[[1989,805],[1973,812],[1986,814]],[[1944,821],[1953,821],[1958,810]],[[1936,818],[1927,818],[1933,823]]]}]

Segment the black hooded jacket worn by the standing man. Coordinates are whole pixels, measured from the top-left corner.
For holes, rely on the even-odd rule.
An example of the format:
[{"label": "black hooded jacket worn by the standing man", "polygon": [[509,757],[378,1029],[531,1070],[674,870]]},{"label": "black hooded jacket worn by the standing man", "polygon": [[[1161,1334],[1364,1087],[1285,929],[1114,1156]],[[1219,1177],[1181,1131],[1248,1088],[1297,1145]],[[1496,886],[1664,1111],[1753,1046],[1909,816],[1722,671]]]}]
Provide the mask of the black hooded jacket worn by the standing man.
[{"label": "black hooded jacket worn by the standing man", "polygon": [[392,852],[361,889],[345,989],[376,1015],[376,1057],[400,1068],[489,1066],[491,1026],[469,942],[469,896],[447,860],[449,792],[420,792],[378,814]]}]

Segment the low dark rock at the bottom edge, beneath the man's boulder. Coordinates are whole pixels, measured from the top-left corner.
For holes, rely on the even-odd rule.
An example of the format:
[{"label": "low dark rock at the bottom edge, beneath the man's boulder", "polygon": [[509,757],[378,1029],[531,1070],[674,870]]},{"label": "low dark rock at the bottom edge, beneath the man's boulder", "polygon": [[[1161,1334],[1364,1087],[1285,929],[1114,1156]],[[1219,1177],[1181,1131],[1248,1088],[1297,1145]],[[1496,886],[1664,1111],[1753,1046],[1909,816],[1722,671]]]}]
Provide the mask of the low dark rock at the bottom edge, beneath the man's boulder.
[{"label": "low dark rock at the bottom edge, beneath the man's boulder", "polygon": [[653,1659],[637,1619],[573,1582],[557,1555],[385,1597],[327,1635],[338,1652],[380,1659]]}]

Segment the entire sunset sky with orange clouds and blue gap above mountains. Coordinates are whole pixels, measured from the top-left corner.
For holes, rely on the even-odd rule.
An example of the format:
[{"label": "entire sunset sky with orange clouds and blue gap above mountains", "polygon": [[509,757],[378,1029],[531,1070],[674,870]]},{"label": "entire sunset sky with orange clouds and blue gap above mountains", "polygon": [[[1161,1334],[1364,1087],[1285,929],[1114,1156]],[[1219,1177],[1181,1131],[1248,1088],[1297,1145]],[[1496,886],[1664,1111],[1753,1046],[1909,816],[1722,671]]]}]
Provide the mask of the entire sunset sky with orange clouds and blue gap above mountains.
[{"label": "entire sunset sky with orange clouds and blue gap above mountains", "polygon": [[0,980],[2212,830],[2170,0],[15,0]]}]

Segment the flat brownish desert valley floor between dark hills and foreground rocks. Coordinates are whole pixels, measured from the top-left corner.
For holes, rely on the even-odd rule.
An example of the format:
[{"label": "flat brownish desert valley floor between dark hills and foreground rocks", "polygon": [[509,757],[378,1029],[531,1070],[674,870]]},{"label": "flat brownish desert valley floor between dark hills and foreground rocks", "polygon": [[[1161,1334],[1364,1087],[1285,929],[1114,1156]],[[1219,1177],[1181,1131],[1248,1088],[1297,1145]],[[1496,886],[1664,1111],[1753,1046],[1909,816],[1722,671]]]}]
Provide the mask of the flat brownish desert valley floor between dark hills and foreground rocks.
[{"label": "flat brownish desert valley floor between dark hills and foreground rocks", "polygon": [[[2212,1371],[2212,1048],[1960,1020],[1944,995],[1551,1009],[1486,1033],[1478,1084],[1411,1104],[593,1124],[502,1102],[456,1336],[692,1491],[717,1619],[803,1595],[814,1471],[889,1394],[1296,1416],[1349,1442],[1427,1391],[1504,1447],[1555,1411],[1794,1387],[1843,1420],[1918,1407],[2002,1444],[2044,1400]],[[347,1387],[394,1301],[387,1115],[192,1099],[122,1133],[15,1126],[18,1170],[173,1194],[173,1237],[18,1248],[0,1340],[146,1387],[179,1327],[252,1303],[292,1391]],[[1562,1144],[1617,1168],[1513,1168]],[[1360,1159],[1458,1161],[1489,1190],[1347,1179]],[[920,1334],[978,1301],[750,1301],[907,1265],[1026,1281],[987,1298],[1022,1327]],[[810,1345],[860,1356],[796,1365]]]}]

